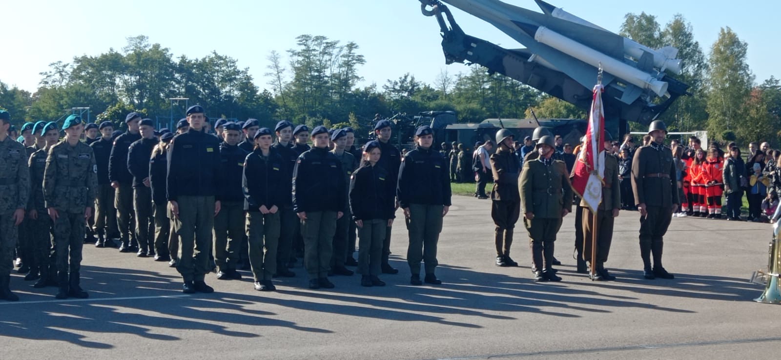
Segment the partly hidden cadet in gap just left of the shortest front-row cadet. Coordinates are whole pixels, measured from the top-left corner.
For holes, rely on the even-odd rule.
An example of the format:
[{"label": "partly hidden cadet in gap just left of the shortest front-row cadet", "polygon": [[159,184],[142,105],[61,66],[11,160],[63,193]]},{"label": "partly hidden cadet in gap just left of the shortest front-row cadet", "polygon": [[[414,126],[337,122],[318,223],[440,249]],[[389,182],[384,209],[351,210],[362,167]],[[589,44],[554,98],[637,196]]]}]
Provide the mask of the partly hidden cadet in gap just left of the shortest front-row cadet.
[{"label": "partly hidden cadet in gap just left of the shortest front-row cadet", "polygon": [[[350,178],[352,172],[358,169],[358,160],[347,151],[347,131],[344,129],[333,130],[331,135],[333,150],[331,153],[339,159],[344,170],[344,187],[350,187]],[[347,192],[344,193],[347,197]],[[345,202],[349,198],[345,198]],[[337,230],[333,235],[333,255],[331,256],[331,273],[335,275],[351,276],[352,270],[344,267],[347,260],[348,244],[350,236],[350,224],[353,223],[352,216],[348,209],[345,209],[344,216],[337,220]]]}]

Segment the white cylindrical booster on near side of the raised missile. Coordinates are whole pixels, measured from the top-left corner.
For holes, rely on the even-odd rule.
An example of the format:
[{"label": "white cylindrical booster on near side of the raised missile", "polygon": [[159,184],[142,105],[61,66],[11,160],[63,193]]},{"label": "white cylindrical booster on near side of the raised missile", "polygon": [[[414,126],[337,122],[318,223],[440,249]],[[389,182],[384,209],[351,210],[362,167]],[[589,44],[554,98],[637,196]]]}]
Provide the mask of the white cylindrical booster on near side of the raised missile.
[{"label": "white cylindrical booster on near side of the raised missile", "polygon": [[538,27],[537,25],[530,23],[517,23],[517,25],[526,34],[534,37],[534,40],[539,41],[544,45],[548,45],[551,48],[555,48],[559,52],[570,55],[582,62],[586,62],[590,66],[597,68],[601,66],[604,71],[626,80],[629,84],[633,84],[641,89],[654,91],[658,96],[665,96],[667,93],[668,84],[665,81],[657,80],[649,73],[645,73],[642,70],[626,65],[626,63],[618,59],[597,52],[593,48],[589,48],[569,37],[558,34],[547,27]]}]

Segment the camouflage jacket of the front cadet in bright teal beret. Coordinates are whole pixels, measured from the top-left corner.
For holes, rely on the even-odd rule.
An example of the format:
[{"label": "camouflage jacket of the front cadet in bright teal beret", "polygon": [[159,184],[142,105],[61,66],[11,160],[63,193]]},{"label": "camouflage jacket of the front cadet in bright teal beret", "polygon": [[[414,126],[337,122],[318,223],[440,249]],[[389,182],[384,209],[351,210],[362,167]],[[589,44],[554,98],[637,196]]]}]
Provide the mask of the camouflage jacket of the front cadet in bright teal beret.
[{"label": "camouflage jacket of the front cadet in bright teal beret", "polygon": [[44,170],[47,208],[77,214],[95,205],[98,166],[89,145],[63,140],[49,149]]}]

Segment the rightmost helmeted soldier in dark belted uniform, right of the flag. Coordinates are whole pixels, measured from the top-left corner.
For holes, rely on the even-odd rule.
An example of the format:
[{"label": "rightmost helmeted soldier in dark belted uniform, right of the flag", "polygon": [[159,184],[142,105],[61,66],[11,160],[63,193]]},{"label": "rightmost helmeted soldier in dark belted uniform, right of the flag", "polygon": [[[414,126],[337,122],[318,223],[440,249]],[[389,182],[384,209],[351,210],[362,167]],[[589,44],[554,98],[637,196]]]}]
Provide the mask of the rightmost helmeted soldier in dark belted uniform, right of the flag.
[{"label": "rightmost helmeted soldier in dark belted uniform, right of the flag", "polygon": [[[662,267],[662,237],[678,209],[676,166],[672,150],[666,147],[667,127],[662,120],[654,120],[648,127],[651,144],[635,151],[632,160],[632,191],[640,211],[640,257],[643,258],[643,276],[672,279],[674,276]],[[654,262],[651,268],[651,255]]]}]

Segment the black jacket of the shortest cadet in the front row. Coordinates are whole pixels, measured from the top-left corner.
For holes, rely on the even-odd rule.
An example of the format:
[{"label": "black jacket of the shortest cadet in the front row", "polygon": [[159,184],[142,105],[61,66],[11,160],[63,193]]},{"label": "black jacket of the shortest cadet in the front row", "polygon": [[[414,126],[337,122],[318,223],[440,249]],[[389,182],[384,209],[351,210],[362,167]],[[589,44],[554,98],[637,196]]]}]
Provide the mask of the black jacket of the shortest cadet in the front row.
[{"label": "black jacket of the shortest cadet in the front row", "polygon": [[353,220],[394,219],[395,203],[390,196],[394,184],[380,166],[362,166],[350,181],[350,211]]}]

